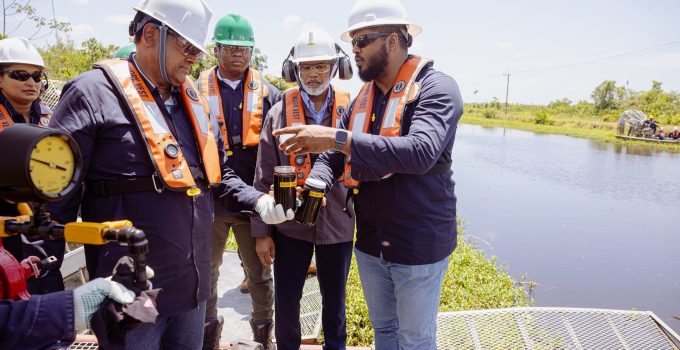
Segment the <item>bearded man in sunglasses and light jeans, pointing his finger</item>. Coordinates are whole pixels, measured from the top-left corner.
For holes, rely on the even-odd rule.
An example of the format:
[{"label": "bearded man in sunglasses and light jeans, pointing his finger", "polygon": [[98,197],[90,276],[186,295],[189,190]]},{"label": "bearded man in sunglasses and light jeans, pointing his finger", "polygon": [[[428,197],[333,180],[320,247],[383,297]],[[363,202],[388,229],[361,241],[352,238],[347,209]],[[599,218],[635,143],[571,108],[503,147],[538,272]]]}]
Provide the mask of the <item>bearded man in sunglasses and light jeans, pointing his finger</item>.
[{"label": "bearded man in sunglasses and light jeans, pointing his finger", "polygon": [[[294,127],[286,153],[326,152],[310,178],[342,176],[357,212],[354,250],[376,349],[436,349],[436,316],[456,247],[452,148],[463,102],[456,82],[410,55],[421,28],[398,0],[358,0],[341,38],[359,77],[346,131]],[[277,285],[278,287],[278,285]]]}]

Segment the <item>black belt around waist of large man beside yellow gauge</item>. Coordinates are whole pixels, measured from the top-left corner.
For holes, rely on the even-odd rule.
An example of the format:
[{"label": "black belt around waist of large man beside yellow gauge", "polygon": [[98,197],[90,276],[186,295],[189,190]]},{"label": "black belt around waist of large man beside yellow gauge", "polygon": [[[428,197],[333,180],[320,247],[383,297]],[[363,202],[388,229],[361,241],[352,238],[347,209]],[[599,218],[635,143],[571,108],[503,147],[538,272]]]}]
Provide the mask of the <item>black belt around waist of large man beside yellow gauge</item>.
[{"label": "black belt around waist of large man beside yellow gauge", "polygon": [[[194,180],[203,179],[203,172],[199,168],[189,167]],[[87,189],[98,197],[117,194],[150,192],[162,193],[165,190],[163,182],[157,174],[151,176],[131,177],[121,180],[88,181]]]}]

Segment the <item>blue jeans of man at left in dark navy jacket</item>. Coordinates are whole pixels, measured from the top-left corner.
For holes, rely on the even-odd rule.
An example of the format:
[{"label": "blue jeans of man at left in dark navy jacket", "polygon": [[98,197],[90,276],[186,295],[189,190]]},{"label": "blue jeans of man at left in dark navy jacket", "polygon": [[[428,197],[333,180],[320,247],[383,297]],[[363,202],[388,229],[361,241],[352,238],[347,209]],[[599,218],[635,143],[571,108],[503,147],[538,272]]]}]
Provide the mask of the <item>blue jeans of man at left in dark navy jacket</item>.
[{"label": "blue jeans of man at left in dark navy jacket", "polygon": [[205,300],[185,313],[159,317],[156,323],[144,323],[125,336],[125,349],[195,350],[203,347]]}]

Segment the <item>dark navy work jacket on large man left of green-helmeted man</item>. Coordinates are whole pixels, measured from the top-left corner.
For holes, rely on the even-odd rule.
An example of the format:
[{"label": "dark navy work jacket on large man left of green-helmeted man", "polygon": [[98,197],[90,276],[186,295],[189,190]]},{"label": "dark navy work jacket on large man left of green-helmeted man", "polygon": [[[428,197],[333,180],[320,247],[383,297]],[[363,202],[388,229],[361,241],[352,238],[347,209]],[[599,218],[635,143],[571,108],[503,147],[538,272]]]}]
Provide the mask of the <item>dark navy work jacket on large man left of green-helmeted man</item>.
[{"label": "dark navy work jacket on large man left of green-helmeted man", "polygon": [[[147,84],[159,109],[175,134],[182,153],[192,167],[199,165],[199,151],[191,122],[178,93],[170,111],[158,90]],[[85,181],[118,180],[146,177],[154,173],[143,136],[130,112],[121,109],[121,100],[101,70],[86,72],[64,86],[50,127],[71,133],[80,146]],[[213,123],[217,144],[222,135]],[[85,186],[65,200],[50,204],[49,210],[60,222],[75,221],[78,209],[83,221],[131,220],[144,230],[149,240],[148,265],[156,272],[155,288],[163,288],[158,297],[161,316],[171,316],[195,308],[210,294],[210,228],[213,223],[213,194],[232,210],[253,210],[261,195],[246,185],[226,165],[226,154],[219,148],[222,184],[210,189],[197,179],[202,194],[189,197],[184,192],[155,191],[96,196]],[[81,194],[82,192],[82,194]],[[94,249],[89,247],[90,251]],[[126,247],[117,243],[101,246],[94,277],[111,275]]]}]

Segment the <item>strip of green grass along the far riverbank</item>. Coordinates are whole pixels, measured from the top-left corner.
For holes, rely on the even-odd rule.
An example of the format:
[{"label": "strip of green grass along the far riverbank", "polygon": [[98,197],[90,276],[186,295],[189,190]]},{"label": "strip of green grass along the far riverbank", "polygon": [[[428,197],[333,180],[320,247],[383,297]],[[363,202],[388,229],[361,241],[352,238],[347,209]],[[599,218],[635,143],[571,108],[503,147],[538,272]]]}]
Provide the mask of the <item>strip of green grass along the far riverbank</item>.
[{"label": "strip of green grass along the far riverbank", "polygon": [[602,121],[595,117],[578,117],[566,114],[550,115],[547,123],[537,123],[536,111],[511,110],[507,115],[503,111],[496,111],[492,118],[485,109],[468,108],[461,118],[462,123],[476,124],[487,127],[504,127],[518,130],[533,131],[543,134],[558,134],[586,138],[613,144],[632,144],[654,147],[657,150],[680,153],[680,144],[651,144],[644,141],[619,140],[616,134],[615,121]]}]

